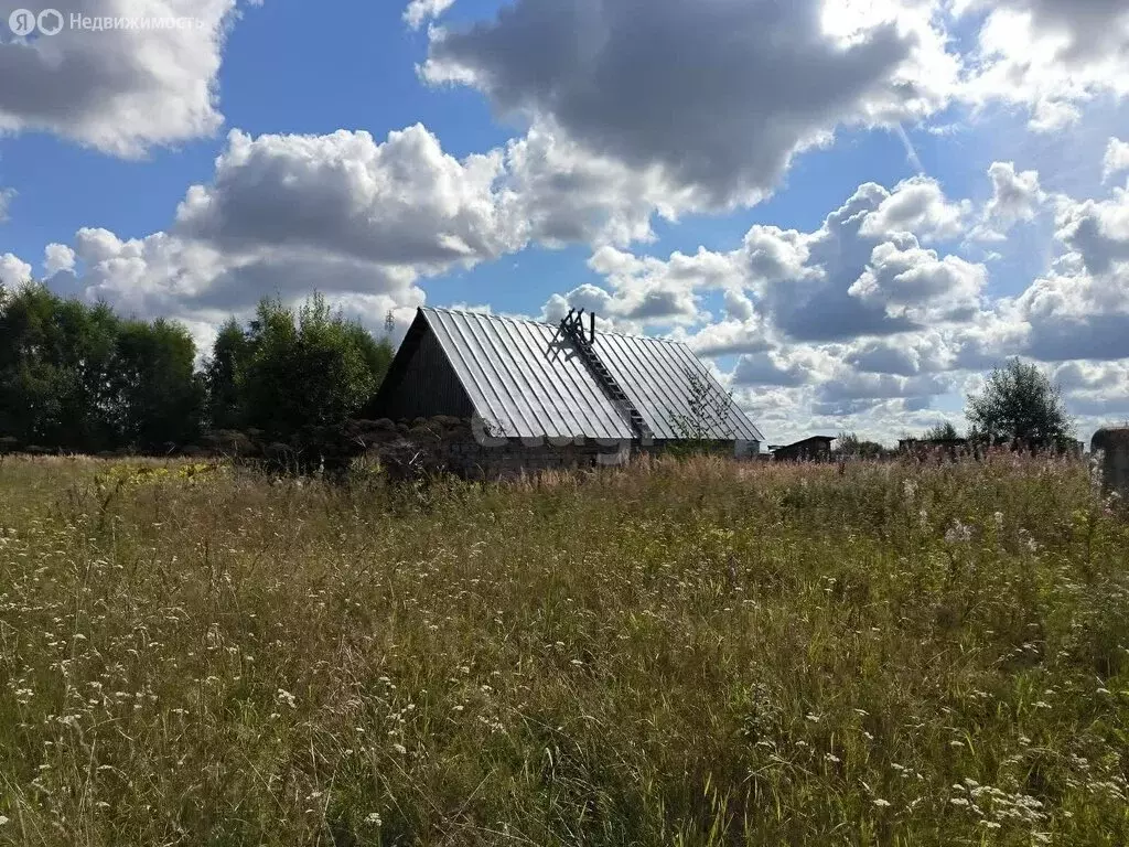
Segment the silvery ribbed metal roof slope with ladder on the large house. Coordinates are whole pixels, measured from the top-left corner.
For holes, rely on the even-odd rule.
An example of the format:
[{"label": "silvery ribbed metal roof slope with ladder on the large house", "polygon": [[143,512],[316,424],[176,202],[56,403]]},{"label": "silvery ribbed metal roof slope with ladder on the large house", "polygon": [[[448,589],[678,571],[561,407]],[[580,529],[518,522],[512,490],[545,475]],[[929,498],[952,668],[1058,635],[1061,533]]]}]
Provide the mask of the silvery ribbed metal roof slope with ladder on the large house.
[{"label": "silvery ribbed metal roof slope with ladder on the large house", "polygon": [[[514,438],[629,440],[628,419],[607,398],[572,343],[557,328],[479,312],[421,307],[479,416]],[[596,333],[605,367],[659,439],[680,437],[692,418],[692,379],[714,396],[725,391],[685,344],[665,339]],[[706,437],[763,442],[735,404]]]}]

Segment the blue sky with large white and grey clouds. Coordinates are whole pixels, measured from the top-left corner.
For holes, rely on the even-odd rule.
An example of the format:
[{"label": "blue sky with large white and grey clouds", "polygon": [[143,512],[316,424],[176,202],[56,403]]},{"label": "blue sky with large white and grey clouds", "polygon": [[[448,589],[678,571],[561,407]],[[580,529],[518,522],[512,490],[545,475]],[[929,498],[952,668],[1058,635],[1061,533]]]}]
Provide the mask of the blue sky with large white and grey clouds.
[{"label": "blue sky with large white and grey clouds", "polygon": [[963,428],[1013,356],[1129,419],[1123,0],[54,2],[0,0],[0,283],[202,355],[584,307],[771,443]]}]

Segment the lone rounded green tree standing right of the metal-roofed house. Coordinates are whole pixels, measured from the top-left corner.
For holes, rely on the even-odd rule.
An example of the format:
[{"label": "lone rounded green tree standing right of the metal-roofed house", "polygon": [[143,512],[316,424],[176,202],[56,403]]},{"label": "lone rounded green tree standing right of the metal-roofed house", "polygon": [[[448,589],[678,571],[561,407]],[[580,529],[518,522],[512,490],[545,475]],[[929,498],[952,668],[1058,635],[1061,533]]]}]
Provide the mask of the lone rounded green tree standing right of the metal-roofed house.
[{"label": "lone rounded green tree standing right of the metal-roofed house", "polygon": [[1059,387],[1018,358],[994,369],[983,391],[969,398],[968,417],[978,438],[1031,448],[1058,446],[1074,429]]}]

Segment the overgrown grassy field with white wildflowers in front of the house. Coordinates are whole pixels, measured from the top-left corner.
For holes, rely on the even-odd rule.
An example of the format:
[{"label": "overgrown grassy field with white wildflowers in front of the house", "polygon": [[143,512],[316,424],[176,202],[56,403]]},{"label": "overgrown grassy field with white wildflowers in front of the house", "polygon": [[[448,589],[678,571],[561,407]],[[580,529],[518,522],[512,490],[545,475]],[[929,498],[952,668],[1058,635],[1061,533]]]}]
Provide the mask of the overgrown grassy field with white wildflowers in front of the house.
[{"label": "overgrown grassy field with white wildflowers in front of the house", "polygon": [[1126,845],[1106,506],[1013,457],[8,459],[0,844]]}]

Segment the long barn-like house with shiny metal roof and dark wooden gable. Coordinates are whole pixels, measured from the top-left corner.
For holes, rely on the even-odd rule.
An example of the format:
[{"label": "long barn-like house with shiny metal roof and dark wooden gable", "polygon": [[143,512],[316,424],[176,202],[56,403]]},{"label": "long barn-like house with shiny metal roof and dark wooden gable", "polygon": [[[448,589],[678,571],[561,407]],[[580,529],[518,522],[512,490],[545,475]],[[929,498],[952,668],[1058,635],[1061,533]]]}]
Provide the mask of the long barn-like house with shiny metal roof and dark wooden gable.
[{"label": "long barn-like house with shiny metal roof and dark wooden gable", "polygon": [[763,440],[685,344],[420,308],[367,418],[469,420],[473,444],[452,463],[502,470],[618,464],[694,443],[737,456]]}]

